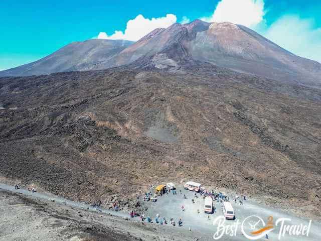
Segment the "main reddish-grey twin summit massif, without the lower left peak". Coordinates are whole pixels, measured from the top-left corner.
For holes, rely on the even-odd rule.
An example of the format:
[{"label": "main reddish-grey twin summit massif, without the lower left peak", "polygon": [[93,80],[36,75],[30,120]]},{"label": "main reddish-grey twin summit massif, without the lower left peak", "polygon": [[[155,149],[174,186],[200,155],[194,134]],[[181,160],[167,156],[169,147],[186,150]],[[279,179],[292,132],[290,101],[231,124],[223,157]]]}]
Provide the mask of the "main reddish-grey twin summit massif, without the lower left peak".
[{"label": "main reddish-grey twin summit massif, without the lower left peak", "polygon": [[298,57],[254,31],[200,20],[156,29],[95,69],[134,63],[176,71],[190,61],[209,62],[285,83],[321,84],[321,64]]}]

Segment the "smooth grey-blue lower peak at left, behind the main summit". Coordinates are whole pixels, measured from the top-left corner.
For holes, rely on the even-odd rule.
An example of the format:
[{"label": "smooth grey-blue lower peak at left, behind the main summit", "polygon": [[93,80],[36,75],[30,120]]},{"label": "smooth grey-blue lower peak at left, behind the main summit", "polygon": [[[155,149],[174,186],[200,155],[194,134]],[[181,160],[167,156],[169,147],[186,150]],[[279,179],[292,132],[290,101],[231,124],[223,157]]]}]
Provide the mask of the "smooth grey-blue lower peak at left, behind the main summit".
[{"label": "smooth grey-blue lower peak at left, behind the main summit", "polygon": [[36,62],[0,72],[0,76],[41,75],[94,68],[116,55],[133,42],[126,40],[92,39],[73,42]]}]

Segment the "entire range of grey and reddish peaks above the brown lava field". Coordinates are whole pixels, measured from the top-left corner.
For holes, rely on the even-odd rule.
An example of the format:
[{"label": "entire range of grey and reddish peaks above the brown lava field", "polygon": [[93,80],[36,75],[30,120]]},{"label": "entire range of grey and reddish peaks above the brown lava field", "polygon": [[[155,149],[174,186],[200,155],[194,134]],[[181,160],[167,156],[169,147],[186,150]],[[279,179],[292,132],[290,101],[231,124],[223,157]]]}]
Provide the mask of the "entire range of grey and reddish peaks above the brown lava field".
[{"label": "entire range of grey and reddish peaks above the brown lava field", "polygon": [[321,83],[320,63],[298,57],[242,25],[200,20],[155,29],[133,44],[119,40],[75,42],[34,63],[2,71],[0,76],[101,70],[126,64],[178,71],[191,61],[286,83]]}]

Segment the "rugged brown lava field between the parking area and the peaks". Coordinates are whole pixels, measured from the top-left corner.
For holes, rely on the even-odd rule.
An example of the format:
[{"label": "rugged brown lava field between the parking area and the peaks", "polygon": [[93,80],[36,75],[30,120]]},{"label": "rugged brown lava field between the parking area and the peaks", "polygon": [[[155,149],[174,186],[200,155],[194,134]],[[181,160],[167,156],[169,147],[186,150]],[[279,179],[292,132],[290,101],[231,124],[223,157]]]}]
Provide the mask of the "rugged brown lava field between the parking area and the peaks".
[{"label": "rugged brown lava field between the parking area and the peaks", "polygon": [[1,78],[0,178],[105,204],[193,179],[320,217],[320,90],[181,72]]}]

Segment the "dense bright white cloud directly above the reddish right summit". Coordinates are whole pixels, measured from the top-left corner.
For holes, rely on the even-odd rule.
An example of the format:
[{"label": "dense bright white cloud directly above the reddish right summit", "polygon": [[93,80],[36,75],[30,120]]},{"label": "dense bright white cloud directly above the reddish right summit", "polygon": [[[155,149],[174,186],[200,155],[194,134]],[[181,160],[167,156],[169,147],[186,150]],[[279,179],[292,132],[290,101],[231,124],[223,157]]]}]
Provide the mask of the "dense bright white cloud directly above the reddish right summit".
[{"label": "dense bright white cloud directly above the reddish right summit", "polygon": [[263,21],[263,0],[221,0],[207,22],[231,22],[246,27],[254,27]]}]

